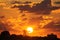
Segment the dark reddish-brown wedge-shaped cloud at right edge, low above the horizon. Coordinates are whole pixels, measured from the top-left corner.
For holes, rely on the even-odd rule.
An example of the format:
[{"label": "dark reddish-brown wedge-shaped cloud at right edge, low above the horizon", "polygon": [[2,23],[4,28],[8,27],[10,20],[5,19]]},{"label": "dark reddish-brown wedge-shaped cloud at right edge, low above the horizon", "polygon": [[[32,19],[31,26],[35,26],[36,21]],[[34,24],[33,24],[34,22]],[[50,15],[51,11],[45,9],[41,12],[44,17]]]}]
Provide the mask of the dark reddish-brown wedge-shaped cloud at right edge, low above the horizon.
[{"label": "dark reddish-brown wedge-shaped cloud at right edge, low above the horizon", "polygon": [[60,31],[60,22],[57,22],[57,23],[51,22],[51,23],[47,24],[46,26],[44,26],[44,28],[53,30],[55,32]]}]

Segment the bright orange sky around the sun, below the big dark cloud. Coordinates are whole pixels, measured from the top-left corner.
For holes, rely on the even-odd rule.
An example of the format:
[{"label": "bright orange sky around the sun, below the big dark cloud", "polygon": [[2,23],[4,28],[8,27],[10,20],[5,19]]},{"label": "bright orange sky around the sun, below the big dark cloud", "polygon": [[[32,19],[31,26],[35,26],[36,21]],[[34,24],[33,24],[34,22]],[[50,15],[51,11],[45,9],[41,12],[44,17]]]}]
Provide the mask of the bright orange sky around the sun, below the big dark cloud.
[{"label": "bright orange sky around the sun, below the big dark cloud", "polygon": [[[20,13],[18,8],[12,9],[10,6],[11,5],[7,6],[4,3],[2,6],[0,5],[0,17],[5,16],[5,18],[0,18],[0,23],[3,23],[5,25],[3,26],[6,27],[11,34],[15,33],[23,35],[23,30],[26,30],[28,26],[31,26],[34,30],[30,34],[26,33],[29,36],[45,36],[47,34],[54,33],[60,37],[59,31],[55,31],[55,29],[52,30],[44,28],[45,25],[52,21],[60,21],[60,9],[53,10],[50,15],[35,15],[29,12]],[[22,16],[24,14],[25,16]],[[39,19],[41,16],[43,19]],[[4,30],[3,28],[1,29]]]}]

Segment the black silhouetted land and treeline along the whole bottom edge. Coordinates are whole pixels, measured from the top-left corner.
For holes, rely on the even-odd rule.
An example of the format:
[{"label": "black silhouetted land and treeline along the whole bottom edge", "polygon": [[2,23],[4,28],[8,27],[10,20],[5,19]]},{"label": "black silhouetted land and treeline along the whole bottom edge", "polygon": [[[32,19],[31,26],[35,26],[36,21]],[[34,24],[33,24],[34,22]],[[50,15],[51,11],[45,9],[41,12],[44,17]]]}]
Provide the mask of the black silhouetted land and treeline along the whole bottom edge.
[{"label": "black silhouetted land and treeline along the whole bottom edge", "polygon": [[54,34],[49,34],[46,37],[28,37],[15,34],[10,35],[8,31],[3,31],[0,34],[0,40],[60,40],[60,38],[57,38]]}]

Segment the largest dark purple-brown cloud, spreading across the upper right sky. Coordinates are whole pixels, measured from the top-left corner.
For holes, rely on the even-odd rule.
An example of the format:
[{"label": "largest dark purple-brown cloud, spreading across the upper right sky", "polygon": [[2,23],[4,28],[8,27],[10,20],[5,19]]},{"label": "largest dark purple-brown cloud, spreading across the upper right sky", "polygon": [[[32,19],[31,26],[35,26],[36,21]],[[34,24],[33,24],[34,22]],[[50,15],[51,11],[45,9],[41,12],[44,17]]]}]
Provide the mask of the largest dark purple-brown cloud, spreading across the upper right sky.
[{"label": "largest dark purple-brown cloud, spreading across the upper right sky", "polygon": [[[29,3],[29,2],[26,2]],[[29,5],[20,5],[20,6],[14,6],[13,8],[19,8],[21,12],[28,11],[35,14],[50,14],[52,10],[59,9],[58,7],[52,7],[51,6],[51,0],[44,0],[41,3],[34,4],[32,7]]]}]

